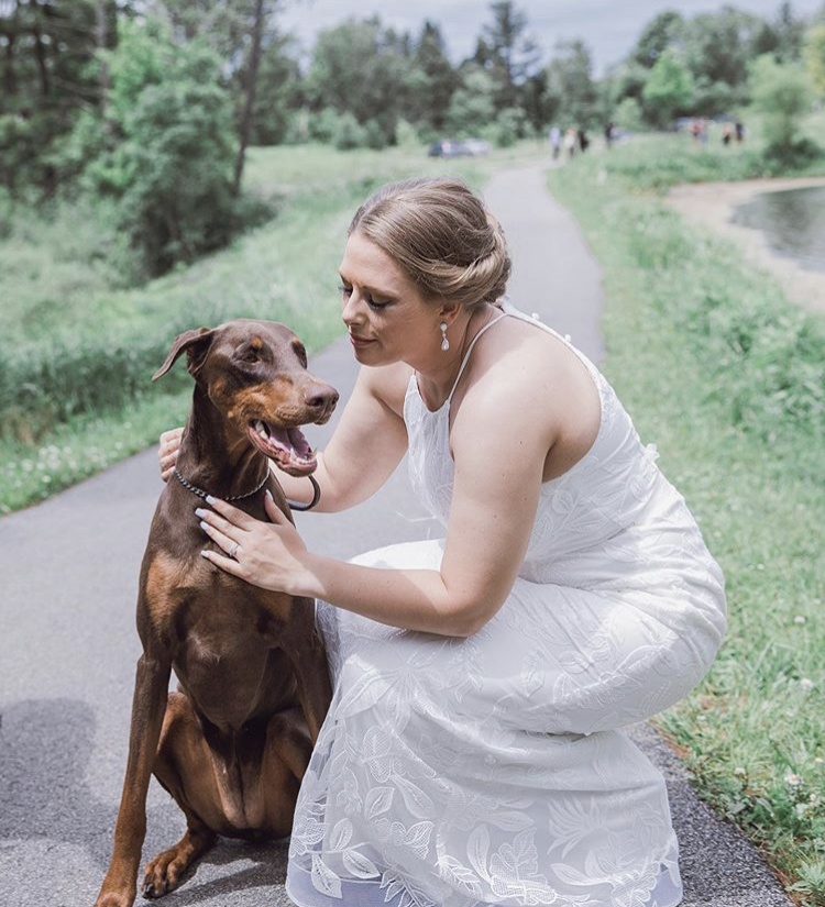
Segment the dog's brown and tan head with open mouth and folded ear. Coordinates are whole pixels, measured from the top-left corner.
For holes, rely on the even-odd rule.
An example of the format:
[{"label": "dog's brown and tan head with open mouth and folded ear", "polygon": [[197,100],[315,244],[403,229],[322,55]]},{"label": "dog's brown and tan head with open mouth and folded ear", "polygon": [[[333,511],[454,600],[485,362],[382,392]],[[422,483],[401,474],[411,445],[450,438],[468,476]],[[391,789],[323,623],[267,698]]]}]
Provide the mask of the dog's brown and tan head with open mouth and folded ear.
[{"label": "dog's brown and tan head with open mouth and folded ear", "polygon": [[299,425],[323,424],[338,391],[307,370],[304,344],[274,321],[238,319],[175,339],[165,375],[182,353],[187,368],[224,419],[285,473],[302,476],[317,463]]}]

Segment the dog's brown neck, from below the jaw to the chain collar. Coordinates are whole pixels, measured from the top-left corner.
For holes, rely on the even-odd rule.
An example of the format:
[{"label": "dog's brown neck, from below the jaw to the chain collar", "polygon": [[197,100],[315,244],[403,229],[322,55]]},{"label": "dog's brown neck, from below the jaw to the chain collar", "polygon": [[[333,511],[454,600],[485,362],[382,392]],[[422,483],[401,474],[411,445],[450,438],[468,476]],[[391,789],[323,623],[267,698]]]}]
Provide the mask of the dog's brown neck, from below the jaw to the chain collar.
[{"label": "dog's brown neck, from below the jaw to the chain collar", "polygon": [[187,483],[212,497],[228,499],[257,488],[270,464],[196,385],[177,469]]}]

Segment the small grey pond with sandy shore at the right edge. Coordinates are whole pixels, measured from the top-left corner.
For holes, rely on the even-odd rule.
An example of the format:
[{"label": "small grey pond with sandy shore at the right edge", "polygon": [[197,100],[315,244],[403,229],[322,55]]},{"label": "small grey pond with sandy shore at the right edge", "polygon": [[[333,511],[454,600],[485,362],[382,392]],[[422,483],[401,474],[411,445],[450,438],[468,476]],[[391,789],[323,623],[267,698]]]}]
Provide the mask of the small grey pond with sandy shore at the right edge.
[{"label": "small grey pond with sandy shore at the right edge", "polygon": [[761,230],[776,252],[825,272],[825,186],[763,192],[734,209],[734,223]]}]

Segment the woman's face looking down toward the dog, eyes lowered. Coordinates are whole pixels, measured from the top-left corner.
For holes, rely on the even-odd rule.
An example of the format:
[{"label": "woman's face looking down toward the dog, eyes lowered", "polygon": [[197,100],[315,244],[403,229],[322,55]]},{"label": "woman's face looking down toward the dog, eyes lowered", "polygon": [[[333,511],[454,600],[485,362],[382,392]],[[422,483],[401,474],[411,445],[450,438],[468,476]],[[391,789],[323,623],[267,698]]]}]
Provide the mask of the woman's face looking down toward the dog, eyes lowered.
[{"label": "woman's face looking down toward the dog, eyes lowered", "polygon": [[440,352],[441,308],[375,243],[354,231],[341,274],[341,317],[363,365],[406,362],[419,370]]}]

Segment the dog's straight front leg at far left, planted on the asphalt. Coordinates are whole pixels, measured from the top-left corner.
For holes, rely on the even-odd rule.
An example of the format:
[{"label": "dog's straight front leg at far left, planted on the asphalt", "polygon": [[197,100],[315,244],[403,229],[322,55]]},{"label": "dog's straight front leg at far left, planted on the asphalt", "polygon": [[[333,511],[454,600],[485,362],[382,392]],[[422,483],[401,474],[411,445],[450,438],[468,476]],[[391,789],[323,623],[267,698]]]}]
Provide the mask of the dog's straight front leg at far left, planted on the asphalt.
[{"label": "dog's straight front leg at far left, planted on the asphalt", "polygon": [[144,651],[138,661],[132,701],[129,761],[123,781],[114,850],[95,907],[131,907],[146,834],[146,794],[161,737],[170,663]]}]

